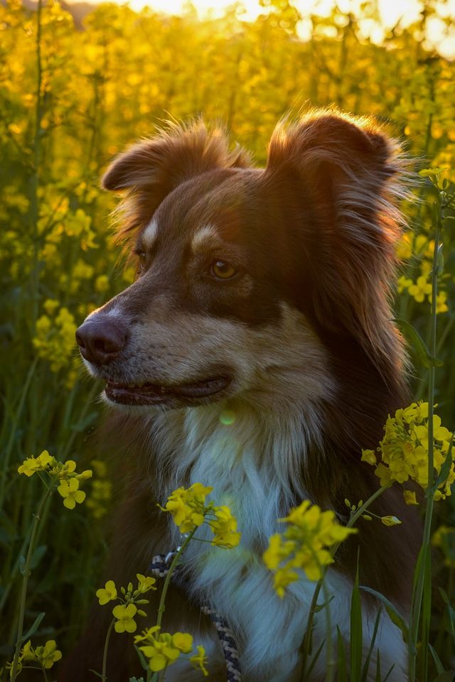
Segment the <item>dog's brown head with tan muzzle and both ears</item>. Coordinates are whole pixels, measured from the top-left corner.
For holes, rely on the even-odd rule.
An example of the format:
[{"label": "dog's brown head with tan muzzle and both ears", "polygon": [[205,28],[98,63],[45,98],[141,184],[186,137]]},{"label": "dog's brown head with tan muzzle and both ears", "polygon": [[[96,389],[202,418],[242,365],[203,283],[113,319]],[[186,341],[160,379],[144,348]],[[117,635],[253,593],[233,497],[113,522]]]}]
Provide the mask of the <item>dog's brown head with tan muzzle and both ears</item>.
[{"label": "dog's brown head with tan muzzle and both ears", "polygon": [[316,112],[277,126],[264,169],[200,122],[115,159],[103,184],[125,191],[137,279],[77,330],[108,401],[323,396],[338,343],[396,369],[397,151],[371,121]]}]

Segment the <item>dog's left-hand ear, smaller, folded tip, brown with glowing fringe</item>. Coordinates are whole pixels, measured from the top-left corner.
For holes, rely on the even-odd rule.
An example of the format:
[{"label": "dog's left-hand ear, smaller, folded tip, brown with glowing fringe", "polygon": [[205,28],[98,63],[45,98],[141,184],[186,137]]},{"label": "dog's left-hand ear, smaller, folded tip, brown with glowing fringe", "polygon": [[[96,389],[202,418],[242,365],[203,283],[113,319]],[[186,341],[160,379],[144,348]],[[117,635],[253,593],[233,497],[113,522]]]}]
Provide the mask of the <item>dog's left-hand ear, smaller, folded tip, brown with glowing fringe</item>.
[{"label": "dog's left-hand ear, smaller, folded tip, brown with glowing fringe", "polygon": [[229,151],[221,129],[208,131],[203,121],[171,123],[157,136],[137,142],[117,156],[102,178],[102,186],[107,190],[146,188],[157,206],[174,188],[195,175],[215,168],[249,165],[250,157],[242,148]]}]

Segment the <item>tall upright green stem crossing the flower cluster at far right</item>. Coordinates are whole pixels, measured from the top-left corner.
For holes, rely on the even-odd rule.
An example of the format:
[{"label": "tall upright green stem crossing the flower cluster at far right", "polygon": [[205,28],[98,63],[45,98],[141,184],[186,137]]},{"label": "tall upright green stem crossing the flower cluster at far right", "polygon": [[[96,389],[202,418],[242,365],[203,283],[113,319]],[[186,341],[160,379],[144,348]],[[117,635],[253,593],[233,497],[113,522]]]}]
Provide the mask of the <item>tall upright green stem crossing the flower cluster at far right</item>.
[{"label": "tall upright green stem crossing the flower cluster at far right", "polygon": [[[439,218],[440,221],[440,218]],[[433,252],[433,269],[432,269],[432,314],[430,325],[430,346],[429,352],[432,357],[436,356],[436,299],[437,299],[437,260],[439,250],[440,237],[440,222],[436,225],[434,233],[434,252]],[[433,414],[434,414],[434,375],[435,367],[432,364],[428,370],[428,485],[431,486],[434,481],[434,452],[433,452]],[[417,639],[419,636],[419,623],[422,611],[422,599],[424,594],[424,587],[431,590],[431,580],[429,578],[429,571],[427,561],[431,560],[429,557],[429,544],[432,531],[432,517],[434,507],[434,493],[429,495],[427,499],[427,508],[425,509],[424,534],[422,541],[422,556],[421,561],[417,563],[417,575],[414,576],[414,590],[412,591],[412,601],[410,610],[410,640],[409,640],[409,660],[410,660],[410,682],[415,682],[416,679],[416,664],[417,664]],[[431,596],[427,607],[431,606]],[[422,642],[422,655],[425,659],[427,656],[427,642]],[[427,666],[425,666],[426,668]],[[426,673],[425,673],[426,675]]]}]

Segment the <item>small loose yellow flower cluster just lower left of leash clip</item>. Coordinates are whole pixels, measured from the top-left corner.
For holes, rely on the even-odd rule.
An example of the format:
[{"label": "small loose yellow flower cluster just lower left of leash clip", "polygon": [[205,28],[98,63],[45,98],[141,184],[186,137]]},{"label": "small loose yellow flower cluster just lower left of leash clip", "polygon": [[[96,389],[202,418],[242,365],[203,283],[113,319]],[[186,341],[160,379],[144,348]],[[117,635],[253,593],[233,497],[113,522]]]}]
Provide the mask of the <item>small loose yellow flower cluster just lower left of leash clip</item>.
[{"label": "small loose yellow flower cluster just lower left of leash clip", "polygon": [[137,573],[137,588],[133,589],[133,583],[129,583],[127,589],[120,588],[122,597],[119,597],[117,587],[114,580],[107,580],[104,588],[97,590],[96,595],[101,606],[119,600],[120,604],[114,606],[112,615],[114,616],[114,630],[115,632],[136,632],[137,622],[134,620],[137,616],[146,617],[146,612],[138,609],[137,605],[148,604],[148,599],[143,599],[142,595],[150,590],[156,590],[155,578],[141,575]]}]

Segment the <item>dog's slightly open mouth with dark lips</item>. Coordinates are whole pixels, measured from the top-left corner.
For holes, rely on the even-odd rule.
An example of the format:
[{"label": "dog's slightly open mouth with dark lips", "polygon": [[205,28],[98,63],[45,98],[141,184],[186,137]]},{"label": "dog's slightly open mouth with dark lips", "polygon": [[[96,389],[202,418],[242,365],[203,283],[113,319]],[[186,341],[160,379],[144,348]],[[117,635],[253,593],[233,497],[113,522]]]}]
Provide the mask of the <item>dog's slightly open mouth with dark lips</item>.
[{"label": "dog's slightly open mouth with dark lips", "polygon": [[223,391],[230,384],[230,377],[213,377],[193,384],[119,384],[107,381],[107,398],[122,405],[158,405],[170,402],[191,403],[201,401]]}]

